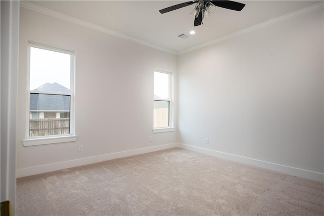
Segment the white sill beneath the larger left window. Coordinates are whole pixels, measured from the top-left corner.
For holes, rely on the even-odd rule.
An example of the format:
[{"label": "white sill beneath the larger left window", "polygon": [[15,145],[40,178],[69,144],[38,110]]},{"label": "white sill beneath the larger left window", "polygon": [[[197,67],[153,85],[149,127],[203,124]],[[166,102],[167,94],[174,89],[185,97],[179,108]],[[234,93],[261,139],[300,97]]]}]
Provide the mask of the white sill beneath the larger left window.
[{"label": "white sill beneath the larger left window", "polygon": [[22,143],[24,146],[36,146],[36,145],[45,145],[53,143],[67,143],[75,142],[77,136],[62,136],[62,137],[48,137],[48,138],[33,138],[23,140]]}]

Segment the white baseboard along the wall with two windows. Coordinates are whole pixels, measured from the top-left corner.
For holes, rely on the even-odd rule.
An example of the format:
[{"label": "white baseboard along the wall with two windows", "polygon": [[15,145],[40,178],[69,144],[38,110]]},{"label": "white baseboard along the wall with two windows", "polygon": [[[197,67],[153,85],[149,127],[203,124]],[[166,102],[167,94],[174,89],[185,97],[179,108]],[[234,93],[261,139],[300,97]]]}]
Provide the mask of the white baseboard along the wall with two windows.
[{"label": "white baseboard along the wall with two windows", "polygon": [[129,151],[98,155],[98,156],[94,156],[94,157],[86,157],[86,158],[80,158],[80,159],[76,159],[76,160],[68,160],[68,161],[63,161],[63,162],[58,162],[58,163],[50,163],[50,164],[45,164],[45,165],[41,165],[41,166],[33,166],[33,167],[27,167],[27,168],[22,168],[22,169],[16,169],[16,178],[32,176],[32,175],[36,175],[36,174],[42,174],[45,172],[67,169],[67,168],[76,167],[76,166],[83,166],[83,165],[87,165],[87,164],[98,163],[98,162],[102,162],[102,161],[106,161],[106,160],[113,160],[113,159],[122,158],[122,157],[129,157],[129,156],[138,155],[138,154],[145,154],[145,153],[149,153],[149,152],[165,150],[165,149],[170,149],[170,148],[175,148],[175,147],[177,147],[176,143],[170,143],[170,144],[165,144],[165,145],[151,146],[151,147],[146,147],[146,148],[133,149],[133,150],[129,150]]}]

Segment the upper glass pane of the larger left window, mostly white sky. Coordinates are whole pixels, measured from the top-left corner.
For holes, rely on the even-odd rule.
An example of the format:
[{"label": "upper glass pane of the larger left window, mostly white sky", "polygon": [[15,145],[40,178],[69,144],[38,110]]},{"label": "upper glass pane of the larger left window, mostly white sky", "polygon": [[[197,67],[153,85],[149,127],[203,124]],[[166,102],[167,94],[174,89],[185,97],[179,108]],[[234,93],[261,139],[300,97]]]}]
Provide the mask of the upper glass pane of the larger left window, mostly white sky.
[{"label": "upper glass pane of the larger left window, mostly white sky", "polygon": [[29,90],[70,92],[71,55],[30,47]]}]

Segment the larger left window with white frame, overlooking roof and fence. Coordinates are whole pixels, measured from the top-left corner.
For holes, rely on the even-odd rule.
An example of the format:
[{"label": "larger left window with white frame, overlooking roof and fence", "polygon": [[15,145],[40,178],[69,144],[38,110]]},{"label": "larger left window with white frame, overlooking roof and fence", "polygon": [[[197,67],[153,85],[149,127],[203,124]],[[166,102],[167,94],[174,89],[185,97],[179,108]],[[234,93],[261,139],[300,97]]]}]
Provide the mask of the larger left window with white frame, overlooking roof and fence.
[{"label": "larger left window with white frame, overlooking roof and fence", "polygon": [[29,44],[28,51],[28,131],[24,145],[75,141],[74,53],[34,44]]}]

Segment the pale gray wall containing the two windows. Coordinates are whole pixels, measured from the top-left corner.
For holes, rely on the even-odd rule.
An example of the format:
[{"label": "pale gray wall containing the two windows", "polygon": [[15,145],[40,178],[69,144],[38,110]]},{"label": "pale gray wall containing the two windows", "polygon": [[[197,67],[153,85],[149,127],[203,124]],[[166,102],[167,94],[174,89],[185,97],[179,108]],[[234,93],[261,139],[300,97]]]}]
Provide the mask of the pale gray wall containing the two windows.
[{"label": "pale gray wall containing the two windows", "polygon": [[[21,143],[27,127],[28,41],[75,52],[76,142]],[[172,71],[176,77],[175,55],[26,8],[20,9],[19,42],[18,176],[176,142],[175,132],[152,133],[154,69]],[[83,145],[82,152],[78,145]]]}]

